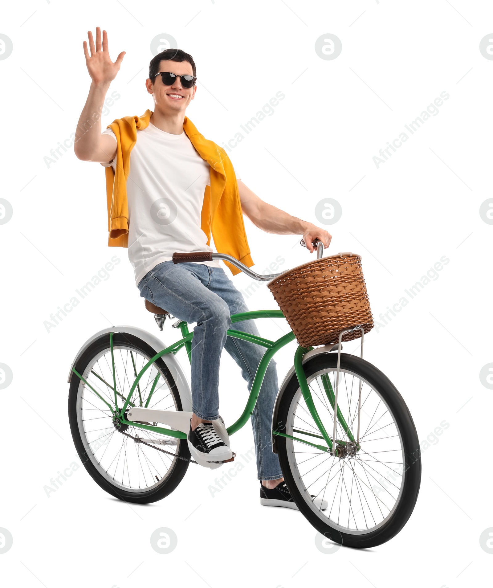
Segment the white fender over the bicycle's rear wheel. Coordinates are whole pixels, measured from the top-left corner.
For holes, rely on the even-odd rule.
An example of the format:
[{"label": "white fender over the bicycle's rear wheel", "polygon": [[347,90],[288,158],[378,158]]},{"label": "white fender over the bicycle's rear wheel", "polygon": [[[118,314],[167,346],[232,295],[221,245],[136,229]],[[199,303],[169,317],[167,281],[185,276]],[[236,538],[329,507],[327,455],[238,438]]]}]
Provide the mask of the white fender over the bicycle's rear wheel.
[{"label": "white fender over the bicycle's rear wheel", "polygon": [[[68,382],[70,382],[72,379],[72,374],[73,374],[72,368],[73,368],[73,366],[76,365],[76,363],[78,362],[82,353],[85,352],[85,350],[89,347],[89,345],[93,341],[95,341],[96,339],[99,339],[100,336],[106,335],[106,333],[110,333],[110,332],[129,333],[129,335],[133,335],[135,337],[138,337],[139,339],[142,339],[144,342],[146,342],[147,345],[152,347],[152,349],[154,349],[156,351],[156,353],[162,351],[163,349],[165,349],[167,347],[167,345],[165,345],[161,339],[157,338],[155,335],[152,335],[151,333],[147,332],[146,330],[139,329],[137,327],[133,327],[130,325],[118,325],[118,326],[108,327],[108,328],[100,330],[98,333],[95,333],[94,335],[92,335],[92,337],[90,337],[84,343],[84,345],[82,345],[81,349],[79,349],[77,355],[75,356],[75,359],[72,362],[72,365],[70,366],[69,377],[67,380]],[[190,385],[189,385],[188,380],[185,376],[185,373],[182,370],[182,366],[180,365],[179,361],[176,359],[175,355],[173,355],[173,353],[166,353],[166,355],[163,355],[161,359],[163,360],[163,362],[166,363],[167,367],[169,368],[169,370],[173,376],[173,379],[175,380],[176,386],[180,392],[180,399],[182,400],[183,410],[191,411],[192,410],[192,392],[190,391]]]}]

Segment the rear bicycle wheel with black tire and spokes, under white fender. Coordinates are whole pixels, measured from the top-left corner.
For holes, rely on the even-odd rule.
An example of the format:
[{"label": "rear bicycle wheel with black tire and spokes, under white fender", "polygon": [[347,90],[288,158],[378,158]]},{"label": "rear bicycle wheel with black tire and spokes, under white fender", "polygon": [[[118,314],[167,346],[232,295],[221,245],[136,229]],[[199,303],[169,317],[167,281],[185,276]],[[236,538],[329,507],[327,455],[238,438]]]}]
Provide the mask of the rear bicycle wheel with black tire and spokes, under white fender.
[{"label": "rear bicycle wheel with black tire and spokes, under white fender", "polygon": [[[136,375],[154,355],[155,350],[141,339],[128,333],[114,333],[113,357],[120,407]],[[115,406],[109,333],[85,350],[75,369],[109,405]],[[130,402],[129,406],[183,410],[180,392],[163,359],[147,369]],[[89,475],[112,496],[126,502],[155,502],[173,492],[185,476],[189,462],[180,458],[190,459],[186,440],[113,422],[108,405],[75,373],[68,408],[72,439],[79,457]]]}]

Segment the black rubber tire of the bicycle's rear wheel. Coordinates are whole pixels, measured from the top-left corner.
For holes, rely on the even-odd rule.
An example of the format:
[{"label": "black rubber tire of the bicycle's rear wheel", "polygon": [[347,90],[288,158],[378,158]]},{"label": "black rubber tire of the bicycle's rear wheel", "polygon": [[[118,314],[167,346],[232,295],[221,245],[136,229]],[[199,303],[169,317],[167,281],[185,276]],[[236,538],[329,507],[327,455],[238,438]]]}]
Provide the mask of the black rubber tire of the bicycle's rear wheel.
[{"label": "black rubber tire of the bicycle's rear wheel", "polygon": [[[156,355],[155,350],[150,348],[150,346],[147,345],[146,342],[144,342],[142,339],[137,338],[136,336],[129,335],[129,333],[114,333],[113,346],[114,348],[118,348],[118,346],[123,346],[126,349],[133,349],[136,353],[145,356],[147,359],[150,359],[154,355]],[[89,348],[85,350],[85,352],[82,354],[81,358],[79,358],[78,362],[75,365],[75,369],[77,370],[77,372],[83,375],[86,369],[88,369],[89,366],[93,365],[93,360],[95,360],[95,358],[97,358],[100,353],[105,352],[105,350],[109,348],[110,340],[109,333],[107,333],[105,335],[102,335],[99,339],[96,339],[89,346]],[[170,370],[167,368],[166,363],[162,359],[159,359],[156,361],[156,366],[162,373],[162,376],[170,389],[170,393],[175,403],[175,409],[183,410],[182,400],[180,399],[180,392],[177,389],[175,380],[173,379]],[[132,492],[126,490],[118,484],[111,483],[111,481],[108,480],[108,476],[105,477],[98,469],[94,453],[90,450],[90,446],[88,445],[87,439],[84,438],[85,436],[82,432],[81,423],[79,423],[78,398],[82,392],[83,387],[84,384],[82,380],[80,380],[75,373],[72,373],[68,399],[68,413],[72,439],[76,447],[77,453],[81,458],[83,466],[85,467],[89,475],[92,477],[92,479],[110,495],[115,496],[120,500],[124,500],[125,502],[133,502],[137,504],[156,502],[156,500],[161,500],[162,498],[173,492],[173,490],[175,490],[175,488],[183,479],[183,476],[185,476],[187,467],[189,465],[189,462],[183,459],[179,459],[179,457],[190,459],[190,452],[186,440],[177,440],[176,457],[172,458],[173,462],[167,470],[166,475],[163,476],[159,482],[155,483],[148,490],[143,490],[142,492],[136,492],[134,490]],[[142,429],[135,430],[142,432]],[[119,435],[120,433],[117,432],[117,434]],[[129,442],[133,443],[134,445],[140,445],[133,442],[130,439]],[[166,447],[166,449],[168,448]]]}]

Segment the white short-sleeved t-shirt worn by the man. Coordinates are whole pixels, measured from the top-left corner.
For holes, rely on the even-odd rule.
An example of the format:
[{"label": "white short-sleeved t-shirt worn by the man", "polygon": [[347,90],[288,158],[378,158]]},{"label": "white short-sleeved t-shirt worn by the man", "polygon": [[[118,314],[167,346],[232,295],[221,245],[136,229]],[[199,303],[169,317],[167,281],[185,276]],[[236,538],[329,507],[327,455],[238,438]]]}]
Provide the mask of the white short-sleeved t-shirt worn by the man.
[{"label": "white short-sleeved t-shirt worn by the man", "polygon": [[[116,141],[111,129],[103,134]],[[101,165],[111,165],[115,171],[116,158]],[[137,131],[127,178],[128,256],[136,285],[158,263],[172,259],[175,252],[213,251],[200,228],[207,185],[209,163],[200,157],[185,131],[172,135],[151,123]],[[196,263],[221,267],[218,261]]]}]

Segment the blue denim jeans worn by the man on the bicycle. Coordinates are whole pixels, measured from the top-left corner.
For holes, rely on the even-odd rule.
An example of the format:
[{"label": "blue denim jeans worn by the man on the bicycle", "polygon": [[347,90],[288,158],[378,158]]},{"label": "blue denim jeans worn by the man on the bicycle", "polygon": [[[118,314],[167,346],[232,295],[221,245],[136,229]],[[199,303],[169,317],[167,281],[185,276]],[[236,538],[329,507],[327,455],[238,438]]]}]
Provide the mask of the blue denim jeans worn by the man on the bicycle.
[{"label": "blue denim jeans worn by the man on the bicycle", "polygon": [[[159,263],[140,280],[140,296],[187,323],[197,323],[192,339],[192,410],[201,419],[219,418],[219,362],[224,349],[242,369],[250,391],[264,349],[226,335],[231,315],[247,312],[242,293],[222,268],[201,263]],[[253,320],[234,323],[234,329],[259,336]],[[235,385],[231,386],[233,390]],[[256,447],[257,477],[282,477],[272,451],[271,419],[278,390],[276,362],[270,360],[251,415]]]}]

